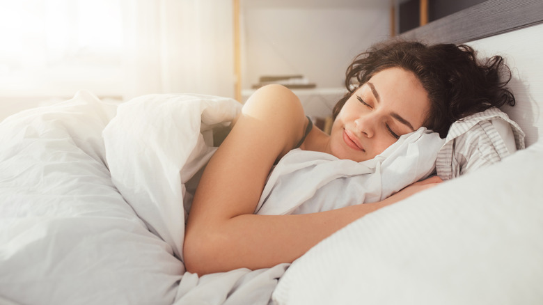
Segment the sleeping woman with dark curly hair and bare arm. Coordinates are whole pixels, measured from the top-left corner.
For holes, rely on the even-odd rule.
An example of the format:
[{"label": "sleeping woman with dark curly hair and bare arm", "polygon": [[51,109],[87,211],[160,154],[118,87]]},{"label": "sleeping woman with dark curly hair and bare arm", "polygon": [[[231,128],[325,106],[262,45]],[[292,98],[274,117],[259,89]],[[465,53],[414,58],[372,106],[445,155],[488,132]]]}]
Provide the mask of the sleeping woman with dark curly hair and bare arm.
[{"label": "sleeping woman with dark curly hair and bare arm", "polygon": [[253,214],[272,167],[293,148],[363,162],[420,127],[443,138],[459,118],[514,104],[502,72],[509,70],[500,56],[479,62],[465,45],[376,45],[349,65],[349,92],[333,109],[329,135],[308,126],[288,88],[260,88],[244,104],[196,189],[184,237],[187,270],[202,275],[290,263],[365,214],[439,184],[439,178],[427,178],[383,201],[326,212]]}]

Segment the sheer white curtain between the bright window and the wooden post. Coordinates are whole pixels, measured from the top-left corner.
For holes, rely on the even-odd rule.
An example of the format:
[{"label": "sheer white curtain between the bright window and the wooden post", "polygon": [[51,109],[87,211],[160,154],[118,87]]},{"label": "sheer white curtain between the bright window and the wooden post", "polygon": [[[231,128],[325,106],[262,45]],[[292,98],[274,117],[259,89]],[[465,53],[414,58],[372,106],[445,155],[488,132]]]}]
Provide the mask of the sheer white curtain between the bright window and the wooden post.
[{"label": "sheer white curtain between the bright window and the wooden post", "polygon": [[234,97],[233,6],[225,0],[124,0],[123,98]]}]

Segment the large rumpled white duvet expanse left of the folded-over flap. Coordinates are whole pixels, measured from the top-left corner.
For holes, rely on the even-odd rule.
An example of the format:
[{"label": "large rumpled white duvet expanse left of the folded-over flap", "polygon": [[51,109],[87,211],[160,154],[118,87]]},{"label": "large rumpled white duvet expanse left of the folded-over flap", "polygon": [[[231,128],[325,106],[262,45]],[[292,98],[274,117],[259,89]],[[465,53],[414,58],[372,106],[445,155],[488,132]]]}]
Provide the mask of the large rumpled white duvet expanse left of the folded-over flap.
[{"label": "large rumpled white duvet expanse left of the folded-over flap", "polygon": [[16,304],[171,304],[183,265],[111,182],[88,93],[0,124],[0,295]]}]

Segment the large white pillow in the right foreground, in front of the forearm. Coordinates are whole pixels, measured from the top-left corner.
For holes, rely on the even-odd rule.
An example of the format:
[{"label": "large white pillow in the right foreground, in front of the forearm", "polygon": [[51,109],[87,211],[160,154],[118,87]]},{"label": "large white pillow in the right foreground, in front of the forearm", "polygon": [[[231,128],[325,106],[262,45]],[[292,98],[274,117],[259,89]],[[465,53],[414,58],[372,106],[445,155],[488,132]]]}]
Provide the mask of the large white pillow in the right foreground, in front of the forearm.
[{"label": "large white pillow in the right foreground, in front of the forearm", "polygon": [[275,304],[543,304],[543,141],[368,214],[290,266]]}]

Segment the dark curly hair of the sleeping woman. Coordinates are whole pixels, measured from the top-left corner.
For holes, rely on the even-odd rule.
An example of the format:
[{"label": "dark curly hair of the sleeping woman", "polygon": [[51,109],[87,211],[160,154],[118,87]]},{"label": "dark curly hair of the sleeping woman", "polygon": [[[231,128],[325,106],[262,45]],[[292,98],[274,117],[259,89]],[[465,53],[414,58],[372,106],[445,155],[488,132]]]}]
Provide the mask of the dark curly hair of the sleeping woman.
[{"label": "dark curly hair of the sleeping woman", "polygon": [[349,92],[333,108],[333,118],[356,89],[387,68],[402,68],[416,75],[431,104],[423,126],[439,132],[441,138],[459,118],[515,103],[513,94],[505,87],[511,71],[501,56],[478,60],[468,45],[390,40],[354,58],[345,78]]}]

